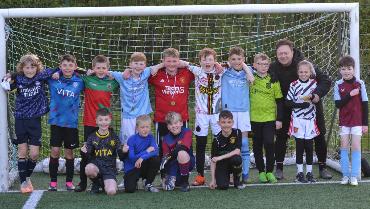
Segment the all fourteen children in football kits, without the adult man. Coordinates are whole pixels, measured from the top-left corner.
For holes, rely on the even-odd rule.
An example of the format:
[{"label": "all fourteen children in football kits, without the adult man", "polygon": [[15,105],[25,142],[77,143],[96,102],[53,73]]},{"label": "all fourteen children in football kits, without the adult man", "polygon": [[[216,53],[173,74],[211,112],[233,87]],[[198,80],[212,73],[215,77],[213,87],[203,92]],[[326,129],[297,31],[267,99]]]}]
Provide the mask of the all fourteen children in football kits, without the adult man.
[{"label": "all fourteen children in football kits, without the adult man", "polygon": [[[164,190],[172,190],[179,185],[182,191],[189,191],[189,172],[195,165],[198,176],[192,185],[205,184],[204,161],[209,126],[215,136],[211,151],[211,189],[215,185],[219,189],[227,189],[229,184],[244,189],[243,183],[251,183],[248,133],[253,141],[259,181],[276,183],[272,173],[275,165],[274,135],[275,130],[282,127],[284,102],[293,108],[288,134],[296,137],[296,181],[316,181],[311,170],[312,139],[319,134],[315,123],[316,109],[312,103],[312,91],[317,82],[312,78],[314,69],[310,62],[299,63],[299,79],[290,85],[287,97],[283,98],[279,81],[274,82],[274,76],[268,72],[269,57],[263,53],[255,56],[253,67],[256,72],[244,63],[243,49],[239,47],[230,49],[228,63],[217,63],[216,52],[209,48],[199,52],[200,65],[180,60],[179,52],[173,48],[164,50],[162,63],[156,66],[146,67],[146,61],[144,54],[134,53],[129,63],[131,69],[112,72],[109,71],[108,58],[98,55],[92,61],[92,70],[85,71],[77,68],[73,56],[63,55],[58,67],[43,69],[37,56],[25,55],[17,66],[18,73],[4,76],[5,85],[2,86],[9,91],[17,90],[16,137],[13,143],[19,146],[17,164],[22,193],[34,189],[30,175],[36,166],[41,143],[41,116],[49,112],[45,83],[51,92],[49,191],[57,190],[58,158],[63,142],[67,190],[84,191],[88,177],[92,181],[91,194],[98,194],[102,187],[108,195],[114,195],[117,191],[115,167],[118,156],[124,160],[125,173],[118,187],[125,188],[125,192],[134,192],[140,177],[144,189],[158,192],[152,182],[159,169]],[[342,184],[350,181],[351,185],[357,185],[361,133],[367,132],[367,95],[363,81],[353,77],[352,58],[341,58],[339,68],[343,79],[336,83],[334,100],[340,108]],[[196,156],[192,148],[192,130],[187,128],[188,90],[192,80],[195,80]],[[152,112],[148,83],[153,84],[155,91],[157,142],[151,135],[152,122],[147,116]],[[113,131],[110,104],[112,91],[118,88],[122,114],[119,136]],[[73,149],[79,147],[80,91],[85,91],[84,146],[81,147],[80,184],[74,187]],[[357,112],[351,111],[353,107],[359,107]],[[359,117],[359,113],[363,117]],[[348,171],[350,132],[353,149],[351,178]],[[28,144],[30,154],[27,159]],[[303,151],[306,152],[307,180],[303,175]],[[230,174],[233,174],[233,179]]]}]

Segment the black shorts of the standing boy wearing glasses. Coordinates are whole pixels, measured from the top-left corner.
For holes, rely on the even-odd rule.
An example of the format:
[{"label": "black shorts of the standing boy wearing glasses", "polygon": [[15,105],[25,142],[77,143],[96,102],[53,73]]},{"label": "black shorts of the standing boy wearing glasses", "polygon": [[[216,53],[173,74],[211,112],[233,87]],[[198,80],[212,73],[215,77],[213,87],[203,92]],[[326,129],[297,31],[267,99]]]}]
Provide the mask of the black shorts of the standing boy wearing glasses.
[{"label": "black shorts of the standing boy wearing glasses", "polygon": [[266,122],[254,122],[250,121],[251,131],[248,133],[249,138],[262,139],[264,136],[272,137],[274,140],[276,124],[275,121],[266,121]]}]

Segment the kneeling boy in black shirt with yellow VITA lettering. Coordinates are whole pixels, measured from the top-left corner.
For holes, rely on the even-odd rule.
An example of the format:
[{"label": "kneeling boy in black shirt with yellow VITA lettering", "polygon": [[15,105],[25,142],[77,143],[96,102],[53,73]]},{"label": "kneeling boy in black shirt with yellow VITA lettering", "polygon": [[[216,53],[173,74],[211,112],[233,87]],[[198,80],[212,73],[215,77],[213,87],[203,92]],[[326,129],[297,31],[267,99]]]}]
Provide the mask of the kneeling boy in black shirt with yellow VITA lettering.
[{"label": "kneeling boy in black shirt with yellow VITA lettering", "polygon": [[85,173],[92,181],[90,194],[99,194],[100,178],[102,178],[107,195],[114,195],[117,191],[115,176],[117,154],[120,160],[125,160],[128,146],[124,145],[121,149],[120,137],[108,129],[112,119],[107,108],[98,109],[95,120],[99,129],[89,135],[86,145],[81,147],[81,151],[91,156],[89,164],[85,167]]}]

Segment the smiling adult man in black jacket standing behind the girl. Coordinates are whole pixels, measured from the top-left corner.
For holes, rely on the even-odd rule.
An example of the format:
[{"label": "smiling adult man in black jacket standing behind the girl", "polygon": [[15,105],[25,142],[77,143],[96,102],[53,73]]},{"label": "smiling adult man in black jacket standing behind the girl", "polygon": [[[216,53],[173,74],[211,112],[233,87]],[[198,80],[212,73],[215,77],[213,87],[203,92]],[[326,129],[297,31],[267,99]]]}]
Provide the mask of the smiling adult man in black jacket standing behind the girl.
[{"label": "smiling adult man in black jacket standing behind the girl", "polygon": [[[332,175],[326,170],[326,154],[327,145],[325,141],[325,120],[323,114],[323,105],[321,98],[324,97],[330,90],[331,81],[329,77],[319,70],[312,60],[306,58],[299,49],[293,48],[293,43],[287,39],[281,39],[277,41],[275,47],[277,53],[277,59],[270,64],[269,70],[276,73],[280,87],[283,93],[283,98],[289,90],[290,83],[298,79],[297,76],[297,64],[302,60],[309,61],[316,72],[317,88],[312,92],[314,94],[313,103],[316,104],[316,124],[319,128],[320,135],[314,137],[315,151],[317,160],[319,161],[319,175],[322,178],[331,179]],[[283,110],[283,127],[275,131],[275,160],[276,160],[276,172],[275,177],[277,180],[284,178],[283,162],[286,154],[286,140],[290,136],[287,135],[290,118],[292,115],[292,108],[287,108],[284,105]]]}]

